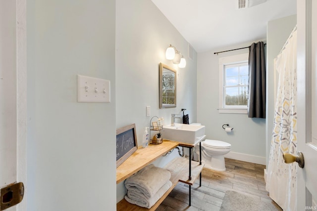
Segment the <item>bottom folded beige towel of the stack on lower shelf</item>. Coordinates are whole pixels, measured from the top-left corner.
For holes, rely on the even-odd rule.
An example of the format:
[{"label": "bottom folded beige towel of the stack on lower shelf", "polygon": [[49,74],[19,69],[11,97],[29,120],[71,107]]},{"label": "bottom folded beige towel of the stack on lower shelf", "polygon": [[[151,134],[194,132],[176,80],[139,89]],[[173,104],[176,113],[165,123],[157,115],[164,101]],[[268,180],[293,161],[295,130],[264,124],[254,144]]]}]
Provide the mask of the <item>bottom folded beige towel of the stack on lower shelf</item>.
[{"label": "bottom folded beige towel of the stack on lower shelf", "polygon": [[151,198],[147,198],[143,193],[128,190],[124,198],[131,204],[150,209],[171,186],[172,182],[168,180]]}]

